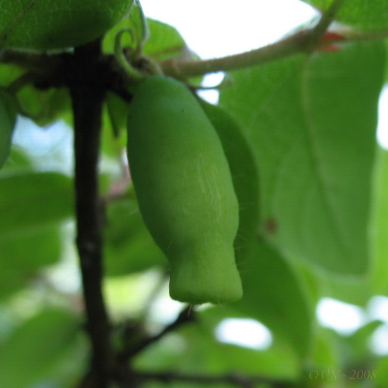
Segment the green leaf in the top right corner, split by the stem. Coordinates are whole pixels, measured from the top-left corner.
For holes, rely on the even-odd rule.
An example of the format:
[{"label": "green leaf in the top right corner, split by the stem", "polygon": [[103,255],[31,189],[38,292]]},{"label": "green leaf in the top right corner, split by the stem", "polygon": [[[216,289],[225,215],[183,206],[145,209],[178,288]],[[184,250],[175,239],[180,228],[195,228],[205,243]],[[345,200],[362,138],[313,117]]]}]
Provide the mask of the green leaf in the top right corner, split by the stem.
[{"label": "green leaf in the top right corner, split by the stem", "polygon": [[[304,0],[320,11],[326,10],[333,0]],[[336,20],[363,30],[383,30],[388,27],[386,0],[343,1]]]}]

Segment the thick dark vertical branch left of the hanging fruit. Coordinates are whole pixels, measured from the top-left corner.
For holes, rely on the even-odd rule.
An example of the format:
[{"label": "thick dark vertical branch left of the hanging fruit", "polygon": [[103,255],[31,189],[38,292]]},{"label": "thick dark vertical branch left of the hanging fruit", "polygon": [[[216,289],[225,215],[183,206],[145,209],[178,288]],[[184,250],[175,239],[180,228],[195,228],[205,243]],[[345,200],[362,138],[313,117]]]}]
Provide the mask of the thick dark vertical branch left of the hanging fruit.
[{"label": "thick dark vertical branch left of the hanging fruit", "polygon": [[[96,84],[99,42],[75,49],[70,94],[74,113],[77,248],[80,255],[87,331],[92,344],[94,388],[108,387],[109,322],[103,300],[102,209],[98,195],[98,154],[105,91]],[[70,73],[69,73],[70,74]]]}]

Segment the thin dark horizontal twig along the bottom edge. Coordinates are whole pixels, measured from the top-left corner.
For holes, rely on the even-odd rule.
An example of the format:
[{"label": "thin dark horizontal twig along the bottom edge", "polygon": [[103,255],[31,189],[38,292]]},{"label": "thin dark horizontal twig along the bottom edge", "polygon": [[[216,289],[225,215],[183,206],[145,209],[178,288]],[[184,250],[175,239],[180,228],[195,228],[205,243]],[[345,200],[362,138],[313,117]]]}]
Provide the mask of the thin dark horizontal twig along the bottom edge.
[{"label": "thin dark horizontal twig along the bottom edge", "polygon": [[177,381],[187,384],[226,384],[227,386],[254,388],[258,384],[268,384],[274,388],[293,387],[291,381],[281,381],[265,378],[262,376],[245,376],[242,374],[228,373],[220,376],[203,376],[197,374],[183,374],[178,372],[135,372],[128,375],[130,381],[134,378],[138,380],[159,380],[163,383],[173,383]]}]

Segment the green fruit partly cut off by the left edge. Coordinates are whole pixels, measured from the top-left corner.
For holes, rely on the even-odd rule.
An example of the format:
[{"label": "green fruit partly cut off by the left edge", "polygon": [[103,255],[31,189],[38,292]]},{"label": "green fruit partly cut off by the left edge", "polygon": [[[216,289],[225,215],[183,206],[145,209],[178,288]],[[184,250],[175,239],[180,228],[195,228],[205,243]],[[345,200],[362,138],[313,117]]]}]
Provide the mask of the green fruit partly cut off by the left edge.
[{"label": "green fruit partly cut off by the left edge", "polygon": [[0,91],[0,168],[8,159],[16,122],[16,107],[11,96]]}]

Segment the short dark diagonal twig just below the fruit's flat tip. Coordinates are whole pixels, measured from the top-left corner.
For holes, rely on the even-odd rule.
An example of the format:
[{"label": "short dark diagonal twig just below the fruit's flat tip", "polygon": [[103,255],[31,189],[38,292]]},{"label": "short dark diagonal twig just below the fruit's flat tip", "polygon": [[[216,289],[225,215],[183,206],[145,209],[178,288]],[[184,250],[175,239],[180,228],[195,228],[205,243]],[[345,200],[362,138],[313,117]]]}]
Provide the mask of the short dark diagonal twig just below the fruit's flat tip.
[{"label": "short dark diagonal twig just below the fruit's flat tip", "polygon": [[159,334],[153,337],[147,337],[136,345],[131,346],[129,349],[124,349],[118,355],[119,363],[122,364],[128,361],[130,358],[144,350],[147,346],[151,345],[154,342],[157,342],[159,339],[161,339],[171,331],[176,330],[178,327],[186,323],[194,322],[195,318],[196,312],[194,311],[192,305],[186,307],[180,312],[177,319],[173,323],[170,323],[168,326],[166,326]]}]

